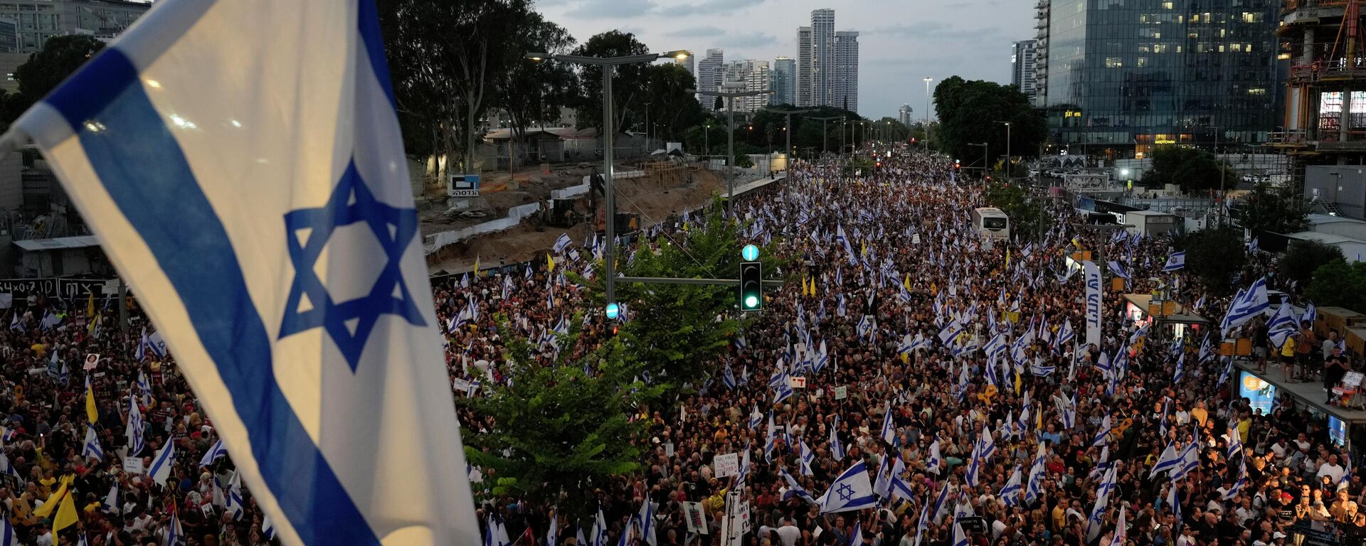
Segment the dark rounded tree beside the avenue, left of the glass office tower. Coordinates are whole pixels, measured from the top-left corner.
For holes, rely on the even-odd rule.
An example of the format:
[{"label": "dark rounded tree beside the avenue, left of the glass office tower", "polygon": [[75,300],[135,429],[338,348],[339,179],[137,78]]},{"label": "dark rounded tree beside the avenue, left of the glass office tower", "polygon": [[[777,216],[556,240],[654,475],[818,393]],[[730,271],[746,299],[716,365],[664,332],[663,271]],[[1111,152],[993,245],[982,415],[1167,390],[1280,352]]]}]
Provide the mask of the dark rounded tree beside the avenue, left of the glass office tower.
[{"label": "dark rounded tree beside the avenue, left of the glass office tower", "polygon": [[[1048,135],[1044,115],[1015,86],[951,76],[934,87],[934,111],[936,146],[953,157],[978,157],[981,150],[970,145],[982,142],[1004,154],[1007,135],[1012,154],[1029,156]],[[997,121],[1008,121],[1011,130]]]}]

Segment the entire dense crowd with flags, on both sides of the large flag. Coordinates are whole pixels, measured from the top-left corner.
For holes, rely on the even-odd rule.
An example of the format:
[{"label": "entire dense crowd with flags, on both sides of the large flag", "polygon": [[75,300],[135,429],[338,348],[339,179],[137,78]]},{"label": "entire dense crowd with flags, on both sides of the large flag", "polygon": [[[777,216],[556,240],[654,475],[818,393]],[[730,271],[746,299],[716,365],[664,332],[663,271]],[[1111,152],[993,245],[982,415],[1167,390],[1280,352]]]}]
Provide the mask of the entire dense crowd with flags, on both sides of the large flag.
[{"label": "entire dense crowd with flags, on both sides of the large flag", "polygon": [[[749,231],[753,242],[773,240],[803,261],[803,278],[768,292],[764,313],[695,396],[639,416],[653,449],[641,474],[602,487],[602,532],[564,517],[550,528],[555,506],[488,494],[475,470],[486,501],[479,521],[500,527],[489,543],[550,535],[556,545],[716,545],[728,493],[751,508],[747,545],[1366,538],[1361,457],[1329,440],[1321,414],[1288,399],[1254,411],[1233,396],[1238,373],[1213,351],[1221,339],[1251,337],[1266,366],[1296,362],[1300,375],[1322,370],[1332,381],[1355,366],[1339,337],[1306,329],[1273,347],[1265,317],[1218,332],[1229,300],[1183,270],[1162,272],[1171,239],[1081,228],[1065,206],[1048,212],[1041,238],[1015,233],[988,247],[971,225],[981,184],[934,156],[846,175],[839,164],[805,164],[739,201],[742,217],[765,225]],[[623,255],[673,229],[649,229]],[[1063,258],[1081,248],[1104,248],[1128,274],[1128,292],[1147,293],[1157,280],[1213,324],[1176,339],[1169,326],[1135,321],[1123,292],[1106,289],[1102,341],[1085,344],[1083,274]],[[561,317],[586,293],[559,276],[591,276],[597,251],[593,240],[574,242],[556,253],[557,270],[537,262],[433,280],[456,396],[505,381],[510,336],[564,330]],[[1254,259],[1238,284],[1272,268]],[[120,329],[102,299],[16,303],[0,333],[0,502],[22,543],[272,542],[269,520],[135,306],[131,328]],[[504,318],[512,332],[499,329]],[[608,328],[589,315],[582,343],[563,349],[583,356]],[[1277,358],[1287,347],[1292,358]],[[97,355],[92,369],[87,355]],[[805,377],[805,388],[787,388],[788,377]],[[168,442],[169,472],[138,470]],[[717,476],[719,456],[729,453],[747,464],[740,476]],[[866,472],[876,506],[822,513],[850,468]],[[66,498],[74,520],[55,506]],[[706,512],[705,534],[688,532],[687,506]],[[641,512],[652,526],[639,524]]]}]

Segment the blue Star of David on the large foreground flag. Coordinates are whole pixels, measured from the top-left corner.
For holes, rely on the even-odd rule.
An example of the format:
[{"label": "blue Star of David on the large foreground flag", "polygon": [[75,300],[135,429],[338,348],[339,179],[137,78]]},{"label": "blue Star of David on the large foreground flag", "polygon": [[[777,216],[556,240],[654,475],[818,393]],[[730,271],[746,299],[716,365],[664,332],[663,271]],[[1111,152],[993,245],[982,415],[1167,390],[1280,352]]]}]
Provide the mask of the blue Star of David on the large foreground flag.
[{"label": "blue Star of David on the large foreground flag", "polygon": [[[365,224],[374,235],[382,257],[337,255],[339,251],[357,250],[333,247],[332,261],[359,265],[382,259],[382,269],[365,295],[336,302],[313,268],[337,228],[357,222]],[[398,315],[414,326],[426,325],[403,281],[402,270],[403,253],[417,235],[417,210],[378,202],[357,171],[355,161],[347,165],[326,205],[291,210],[284,214],[284,225],[290,261],[294,263],[294,283],[280,321],[280,339],[322,328],[355,373],[365,343],[381,315]],[[351,273],[333,269],[328,278],[331,281]]]}]

